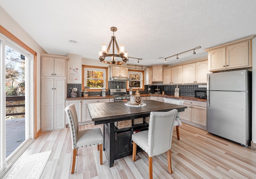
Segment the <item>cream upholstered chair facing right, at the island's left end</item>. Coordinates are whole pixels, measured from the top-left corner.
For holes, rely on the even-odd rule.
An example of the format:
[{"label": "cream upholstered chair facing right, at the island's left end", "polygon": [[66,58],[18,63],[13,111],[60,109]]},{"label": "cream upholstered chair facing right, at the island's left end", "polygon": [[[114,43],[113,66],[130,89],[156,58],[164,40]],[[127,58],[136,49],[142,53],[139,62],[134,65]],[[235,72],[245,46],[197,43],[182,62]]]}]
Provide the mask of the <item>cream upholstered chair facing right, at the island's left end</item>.
[{"label": "cream upholstered chair facing right, at the island's left end", "polygon": [[72,140],[72,149],[73,149],[71,173],[74,173],[78,148],[98,145],[98,150],[100,150],[100,165],[102,165],[103,136],[100,128],[90,128],[90,129],[79,131],[78,118],[77,118],[75,105],[70,104],[65,108],[65,111],[68,116],[68,122],[70,126],[71,140]]}]

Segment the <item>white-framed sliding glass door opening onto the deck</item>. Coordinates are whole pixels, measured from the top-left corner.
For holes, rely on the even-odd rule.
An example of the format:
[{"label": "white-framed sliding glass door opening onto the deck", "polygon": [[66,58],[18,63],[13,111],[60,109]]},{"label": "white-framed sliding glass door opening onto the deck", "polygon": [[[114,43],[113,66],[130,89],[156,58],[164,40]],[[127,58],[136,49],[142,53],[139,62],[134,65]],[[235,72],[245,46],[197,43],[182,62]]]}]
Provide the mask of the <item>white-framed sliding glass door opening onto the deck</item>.
[{"label": "white-framed sliding glass door opening onto the deck", "polygon": [[1,170],[34,138],[33,55],[0,36]]}]

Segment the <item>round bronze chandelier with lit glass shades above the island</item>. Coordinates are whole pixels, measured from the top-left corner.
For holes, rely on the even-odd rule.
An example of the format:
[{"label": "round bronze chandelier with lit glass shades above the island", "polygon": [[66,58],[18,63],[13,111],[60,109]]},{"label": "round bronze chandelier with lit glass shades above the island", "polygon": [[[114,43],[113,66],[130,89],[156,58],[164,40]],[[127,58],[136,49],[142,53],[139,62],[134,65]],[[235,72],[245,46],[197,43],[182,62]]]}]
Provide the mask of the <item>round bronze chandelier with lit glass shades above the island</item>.
[{"label": "round bronze chandelier with lit glass shades above the island", "polygon": [[[117,31],[117,28],[111,27],[110,30],[113,31],[113,36],[111,37],[110,43],[108,45],[108,49],[107,49],[107,45],[105,43],[102,43],[101,50],[99,51],[99,60],[103,63],[108,63],[108,64],[126,63],[128,61],[128,52],[124,51],[124,44],[120,44],[120,46],[118,47],[118,44],[116,42],[116,37],[114,36],[114,32]],[[109,54],[111,44],[113,47],[113,53]],[[118,54],[115,54],[115,45],[116,45]],[[105,61],[106,57],[111,57],[111,61]],[[120,57],[122,61],[116,61],[116,57]]]}]

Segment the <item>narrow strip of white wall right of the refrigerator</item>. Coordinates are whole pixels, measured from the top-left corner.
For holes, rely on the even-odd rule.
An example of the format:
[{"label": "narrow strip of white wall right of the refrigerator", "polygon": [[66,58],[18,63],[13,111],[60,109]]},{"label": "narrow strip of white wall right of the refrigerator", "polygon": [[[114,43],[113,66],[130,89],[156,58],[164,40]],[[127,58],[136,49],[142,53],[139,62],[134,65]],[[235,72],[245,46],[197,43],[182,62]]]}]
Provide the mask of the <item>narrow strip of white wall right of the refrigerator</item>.
[{"label": "narrow strip of white wall right of the refrigerator", "polygon": [[256,38],[252,39],[252,142],[256,148]]}]

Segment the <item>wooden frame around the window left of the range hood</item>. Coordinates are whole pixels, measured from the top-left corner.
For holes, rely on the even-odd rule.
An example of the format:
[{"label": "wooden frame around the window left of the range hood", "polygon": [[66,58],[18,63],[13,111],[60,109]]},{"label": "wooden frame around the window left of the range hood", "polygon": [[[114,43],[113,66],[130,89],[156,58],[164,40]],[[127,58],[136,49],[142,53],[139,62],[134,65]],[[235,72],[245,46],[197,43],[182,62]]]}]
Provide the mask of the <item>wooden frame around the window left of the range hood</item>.
[{"label": "wooden frame around the window left of the range hood", "polygon": [[[106,88],[106,90],[108,90],[108,67],[98,67],[98,66],[90,66],[90,65],[82,65],[82,91],[87,90],[87,91],[102,91],[102,88],[98,88],[98,89],[85,89],[85,75],[86,73],[84,72],[86,69],[92,69],[92,70],[105,70],[105,77],[104,77],[104,86]],[[103,87],[104,88],[104,87]]]}]

